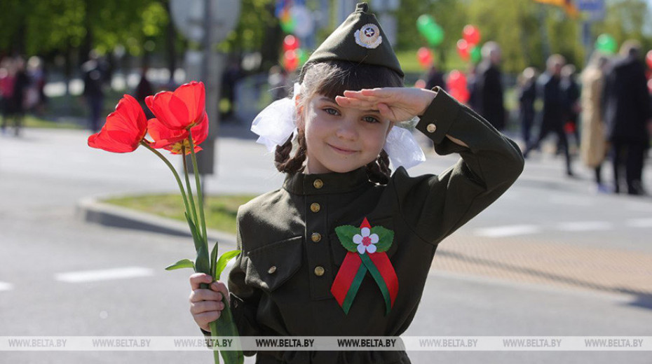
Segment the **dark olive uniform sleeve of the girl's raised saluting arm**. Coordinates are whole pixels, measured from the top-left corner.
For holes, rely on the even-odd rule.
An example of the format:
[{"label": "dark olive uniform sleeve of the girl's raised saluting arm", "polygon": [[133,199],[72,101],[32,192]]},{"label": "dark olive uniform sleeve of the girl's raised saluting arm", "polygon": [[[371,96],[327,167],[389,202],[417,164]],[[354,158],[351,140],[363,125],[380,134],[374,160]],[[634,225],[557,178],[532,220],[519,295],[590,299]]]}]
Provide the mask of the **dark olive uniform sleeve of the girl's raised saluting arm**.
[{"label": "dark olive uniform sleeve of the girl's raised saluting arm", "polygon": [[461,160],[438,176],[412,178],[399,168],[390,185],[405,223],[437,244],[496,201],[521,174],[524,160],[514,141],[441,89],[420,119],[416,129],[433,140],[435,151],[459,153]]}]

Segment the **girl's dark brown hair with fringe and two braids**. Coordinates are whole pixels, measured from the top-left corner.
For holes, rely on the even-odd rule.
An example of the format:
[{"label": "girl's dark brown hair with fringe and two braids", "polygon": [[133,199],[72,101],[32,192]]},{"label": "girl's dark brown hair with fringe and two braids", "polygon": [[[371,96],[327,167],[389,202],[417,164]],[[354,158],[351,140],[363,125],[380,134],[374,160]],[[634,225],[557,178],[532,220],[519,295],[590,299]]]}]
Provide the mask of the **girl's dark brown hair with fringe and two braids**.
[{"label": "girl's dark brown hair with fringe and two braids", "polygon": [[[334,99],[336,96],[344,94],[345,90],[403,86],[403,78],[391,69],[383,66],[344,61],[308,64],[302,70],[300,78],[303,83],[301,85],[301,99],[299,99],[297,109],[303,109],[315,94],[322,94],[325,97]],[[292,137],[287,139],[283,146],[276,147],[274,164],[279,172],[295,174],[303,172],[305,169],[306,136],[303,132],[299,132],[297,141],[298,148],[292,158],[290,158]],[[376,160],[367,164],[369,181],[374,183],[387,184],[391,172],[389,158],[384,150],[381,151]]]}]

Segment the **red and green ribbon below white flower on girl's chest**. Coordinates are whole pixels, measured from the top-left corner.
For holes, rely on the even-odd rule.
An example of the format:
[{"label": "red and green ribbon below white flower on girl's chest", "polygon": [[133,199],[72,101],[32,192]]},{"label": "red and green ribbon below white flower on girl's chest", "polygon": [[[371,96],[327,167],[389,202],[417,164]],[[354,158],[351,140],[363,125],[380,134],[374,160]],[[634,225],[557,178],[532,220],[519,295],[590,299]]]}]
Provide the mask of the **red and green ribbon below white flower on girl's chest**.
[{"label": "red and green ribbon below white flower on girl's chest", "polygon": [[[360,228],[364,228],[365,225],[369,227],[366,218]],[[348,314],[367,272],[372,275],[380,288],[385,301],[385,314],[389,314],[398,293],[398,277],[385,251],[376,251],[376,253],[365,251],[362,254],[358,251],[348,251],[330,288],[331,293],[344,309],[344,313]]]}]

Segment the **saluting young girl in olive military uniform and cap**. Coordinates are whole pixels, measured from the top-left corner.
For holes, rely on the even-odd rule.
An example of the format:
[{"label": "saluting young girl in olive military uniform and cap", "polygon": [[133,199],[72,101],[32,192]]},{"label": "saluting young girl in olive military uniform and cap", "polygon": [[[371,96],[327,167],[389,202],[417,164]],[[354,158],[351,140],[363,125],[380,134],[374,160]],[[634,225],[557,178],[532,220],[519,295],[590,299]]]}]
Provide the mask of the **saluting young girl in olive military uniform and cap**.
[{"label": "saluting young girl in olive military uniform and cap", "polygon": [[[523,158],[477,113],[438,87],[402,87],[402,77],[376,18],[358,4],[301,71],[293,102],[297,151],[286,133],[276,148],[283,188],[240,207],[242,253],[228,289],[219,281],[201,289],[212,278],[191,276],[191,313],[202,330],[219,318],[224,295],[243,336],[405,332],[437,244],[504,193]],[[263,138],[292,134],[283,121],[292,116],[266,113],[263,121],[276,127]],[[438,176],[411,177],[404,167],[390,174],[388,158],[395,166],[419,160],[411,134],[398,127],[414,116],[438,154],[462,157]],[[256,363],[409,358],[405,351],[259,351]]]}]

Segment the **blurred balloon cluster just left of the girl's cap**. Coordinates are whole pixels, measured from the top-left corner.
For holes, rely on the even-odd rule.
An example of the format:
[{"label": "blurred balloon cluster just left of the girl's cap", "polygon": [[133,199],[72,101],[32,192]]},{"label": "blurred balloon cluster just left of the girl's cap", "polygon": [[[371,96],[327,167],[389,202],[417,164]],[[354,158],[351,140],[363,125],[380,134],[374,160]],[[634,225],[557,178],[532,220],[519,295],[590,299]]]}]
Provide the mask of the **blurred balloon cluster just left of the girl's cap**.
[{"label": "blurred balloon cluster just left of the girl's cap", "polygon": [[292,0],[276,1],[275,14],[281,29],[288,34],[283,40],[283,66],[288,72],[296,71],[308,60],[308,52],[299,48],[299,38],[312,34],[313,15],[306,6]]}]

